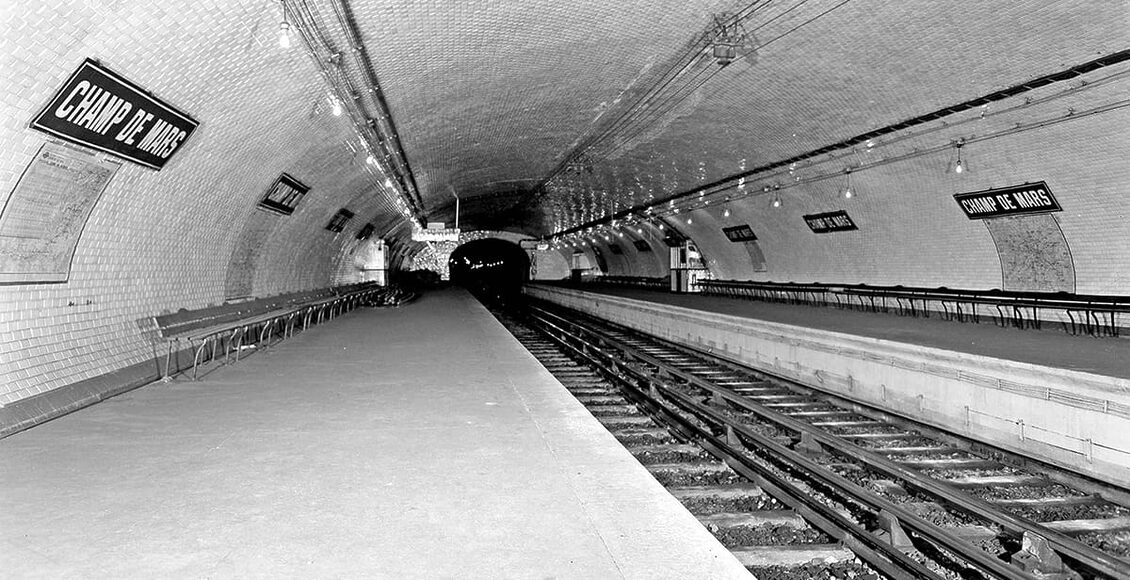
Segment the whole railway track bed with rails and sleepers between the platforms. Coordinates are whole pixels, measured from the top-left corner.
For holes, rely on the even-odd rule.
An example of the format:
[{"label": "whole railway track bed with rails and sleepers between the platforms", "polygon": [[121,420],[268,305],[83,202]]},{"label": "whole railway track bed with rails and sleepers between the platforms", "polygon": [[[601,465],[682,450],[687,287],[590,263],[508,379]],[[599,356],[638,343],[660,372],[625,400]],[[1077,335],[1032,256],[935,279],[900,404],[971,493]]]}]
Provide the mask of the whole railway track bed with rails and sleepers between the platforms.
[{"label": "whole railway track bed with rails and sleepers between the platforms", "polygon": [[758,577],[808,577],[747,560],[773,549],[744,542],[785,526],[858,575],[1130,578],[1125,490],[577,313],[529,320],[515,336],[692,511],[712,505],[704,525]]}]

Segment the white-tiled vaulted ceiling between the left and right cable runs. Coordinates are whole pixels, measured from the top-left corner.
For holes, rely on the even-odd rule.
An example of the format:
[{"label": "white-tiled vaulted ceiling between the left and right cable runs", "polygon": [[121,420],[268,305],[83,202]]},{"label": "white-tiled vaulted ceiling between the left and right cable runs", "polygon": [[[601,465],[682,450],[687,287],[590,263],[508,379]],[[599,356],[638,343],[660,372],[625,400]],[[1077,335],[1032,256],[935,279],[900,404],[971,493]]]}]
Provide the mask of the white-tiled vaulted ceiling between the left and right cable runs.
[{"label": "white-tiled vaulted ceiling between the left and right cable runs", "polygon": [[1125,44],[1120,0],[347,3],[428,217],[536,234]]}]

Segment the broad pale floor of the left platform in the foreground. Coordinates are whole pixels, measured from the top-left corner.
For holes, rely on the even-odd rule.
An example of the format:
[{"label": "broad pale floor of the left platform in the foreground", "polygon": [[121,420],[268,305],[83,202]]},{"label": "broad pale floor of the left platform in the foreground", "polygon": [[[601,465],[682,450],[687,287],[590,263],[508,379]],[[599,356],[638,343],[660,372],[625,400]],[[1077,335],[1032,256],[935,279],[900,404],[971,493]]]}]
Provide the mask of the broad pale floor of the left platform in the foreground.
[{"label": "broad pale floor of the left platform in the foreground", "polygon": [[0,441],[0,575],[748,578],[458,289]]}]

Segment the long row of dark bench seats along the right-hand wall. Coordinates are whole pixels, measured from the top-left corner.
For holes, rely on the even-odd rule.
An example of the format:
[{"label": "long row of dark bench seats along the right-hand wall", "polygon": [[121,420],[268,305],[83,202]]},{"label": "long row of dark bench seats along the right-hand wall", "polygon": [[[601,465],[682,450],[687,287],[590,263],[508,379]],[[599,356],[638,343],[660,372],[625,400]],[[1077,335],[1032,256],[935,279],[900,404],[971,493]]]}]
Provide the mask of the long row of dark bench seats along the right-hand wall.
[{"label": "long row of dark bench seats along the right-hand wall", "polygon": [[[750,280],[699,280],[703,294],[783,302],[833,305],[871,312],[895,312],[929,317],[931,304],[947,320],[980,322],[988,314],[1000,326],[1041,328],[1041,312],[1063,312],[1064,330],[1093,336],[1119,336],[1120,314],[1130,312],[1130,296],[1071,294],[1067,292],[1010,292],[871,286],[797,284]],[[979,309],[980,306],[980,309]],[[993,314],[996,312],[996,315]]]}]

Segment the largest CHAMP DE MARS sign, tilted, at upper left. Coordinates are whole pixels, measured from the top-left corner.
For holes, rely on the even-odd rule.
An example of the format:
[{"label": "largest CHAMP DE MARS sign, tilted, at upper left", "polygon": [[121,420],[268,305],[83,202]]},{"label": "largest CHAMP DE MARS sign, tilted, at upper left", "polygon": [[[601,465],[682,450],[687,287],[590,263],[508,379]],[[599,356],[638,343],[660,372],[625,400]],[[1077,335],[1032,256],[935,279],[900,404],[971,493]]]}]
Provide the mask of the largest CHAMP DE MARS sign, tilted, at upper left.
[{"label": "largest CHAMP DE MARS sign, tilted, at upper left", "polygon": [[200,123],[86,59],[32,128],[160,170]]}]

